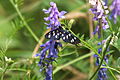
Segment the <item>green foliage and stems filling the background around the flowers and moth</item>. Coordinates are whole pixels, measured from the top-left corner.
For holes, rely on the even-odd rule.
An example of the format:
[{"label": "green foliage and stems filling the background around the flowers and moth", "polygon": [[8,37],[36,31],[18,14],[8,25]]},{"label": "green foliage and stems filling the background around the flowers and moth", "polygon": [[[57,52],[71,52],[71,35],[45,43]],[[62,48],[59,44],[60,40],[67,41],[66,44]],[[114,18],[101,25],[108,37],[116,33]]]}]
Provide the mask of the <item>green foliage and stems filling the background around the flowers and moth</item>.
[{"label": "green foliage and stems filling the background around the flowers and moth", "polygon": [[[92,14],[88,14],[91,6],[86,0],[0,0],[0,79],[44,80],[44,73],[38,66],[39,57],[35,54],[47,41],[44,37],[47,32],[44,24],[46,15],[42,9],[48,8],[51,1],[57,4],[59,11],[67,11],[61,23],[81,41],[72,45],[60,40],[63,47],[59,48],[59,57],[53,62],[53,80],[91,78],[97,70],[93,55],[98,55],[101,61],[103,58],[98,53],[101,46],[97,45],[103,39],[107,42],[102,45],[102,53],[109,54],[109,62],[106,64],[103,60],[106,66],[99,68],[108,69],[108,80],[117,80],[120,76],[120,16],[116,24],[108,19],[110,29],[103,31],[103,39],[100,40],[98,35],[92,34],[95,27],[91,27]],[[108,3],[111,5],[111,0]],[[106,52],[108,45],[110,51]],[[97,75],[94,80],[96,78]]]}]

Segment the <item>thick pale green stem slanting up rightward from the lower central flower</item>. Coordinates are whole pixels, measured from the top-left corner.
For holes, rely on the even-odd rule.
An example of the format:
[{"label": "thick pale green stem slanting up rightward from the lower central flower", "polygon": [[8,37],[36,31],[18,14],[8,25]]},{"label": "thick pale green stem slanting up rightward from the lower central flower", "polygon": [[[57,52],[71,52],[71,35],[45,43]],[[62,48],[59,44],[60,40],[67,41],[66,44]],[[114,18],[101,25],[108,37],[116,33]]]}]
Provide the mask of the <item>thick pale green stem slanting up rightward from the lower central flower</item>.
[{"label": "thick pale green stem slanting up rightward from the lower central flower", "polygon": [[79,61],[79,60],[81,60],[81,59],[87,58],[87,57],[89,57],[89,56],[91,56],[91,55],[93,55],[93,53],[88,53],[88,54],[86,54],[86,55],[84,55],[84,56],[81,56],[81,57],[78,57],[78,58],[76,58],[76,59],[74,59],[74,60],[72,60],[72,61],[70,61],[70,62],[68,62],[68,63],[66,63],[66,64],[64,64],[64,65],[62,65],[62,66],[58,66],[58,67],[53,71],[53,74],[55,74],[56,72],[58,72],[58,71],[61,70],[62,68],[66,67],[66,66],[69,66],[69,65],[71,65],[71,64],[73,64],[73,63],[75,63],[75,62],[77,62],[77,61]]}]

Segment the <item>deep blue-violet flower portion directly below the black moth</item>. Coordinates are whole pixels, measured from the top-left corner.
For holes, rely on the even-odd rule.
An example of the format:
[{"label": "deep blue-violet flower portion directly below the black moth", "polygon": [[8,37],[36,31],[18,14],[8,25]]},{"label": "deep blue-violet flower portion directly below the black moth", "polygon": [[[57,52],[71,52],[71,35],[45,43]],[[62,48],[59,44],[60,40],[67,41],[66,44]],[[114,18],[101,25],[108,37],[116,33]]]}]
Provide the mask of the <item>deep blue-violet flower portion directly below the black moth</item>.
[{"label": "deep blue-violet flower portion directly below the black moth", "polygon": [[47,41],[45,44],[41,45],[43,50],[36,56],[40,56],[39,66],[40,71],[46,69],[45,80],[52,80],[52,62],[58,57],[58,46],[62,47],[60,42],[54,40]]}]

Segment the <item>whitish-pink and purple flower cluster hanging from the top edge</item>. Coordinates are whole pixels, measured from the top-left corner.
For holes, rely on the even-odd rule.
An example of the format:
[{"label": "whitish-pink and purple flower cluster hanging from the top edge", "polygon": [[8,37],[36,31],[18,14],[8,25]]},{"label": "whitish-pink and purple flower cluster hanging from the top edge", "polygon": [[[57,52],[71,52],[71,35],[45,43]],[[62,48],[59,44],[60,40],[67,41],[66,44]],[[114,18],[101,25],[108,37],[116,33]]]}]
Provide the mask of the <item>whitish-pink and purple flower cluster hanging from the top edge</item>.
[{"label": "whitish-pink and purple flower cluster hanging from the top edge", "polygon": [[103,30],[109,28],[108,22],[106,20],[107,17],[106,14],[109,13],[109,11],[107,10],[108,7],[106,3],[101,0],[89,0],[89,3],[93,5],[93,8],[90,9],[94,14],[93,20],[98,22],[94,34],[98,33],[98,36],[100,37],[101,36],[99,34],[100,27],[102,27]]}]

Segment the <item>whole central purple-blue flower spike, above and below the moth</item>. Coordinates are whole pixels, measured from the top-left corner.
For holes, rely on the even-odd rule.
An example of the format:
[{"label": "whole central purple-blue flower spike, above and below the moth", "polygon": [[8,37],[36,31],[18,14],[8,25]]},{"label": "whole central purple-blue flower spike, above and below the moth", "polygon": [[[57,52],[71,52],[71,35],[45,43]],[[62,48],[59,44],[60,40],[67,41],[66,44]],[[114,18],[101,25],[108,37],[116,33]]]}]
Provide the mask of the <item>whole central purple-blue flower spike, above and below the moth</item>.
[{"label": "whole central purple-blue flower spike, above and below the moth", "polygon": [[[46,14],[49,14],[49,17],[44,18],[45,21],[49,21],[49,23],[45,23],[47,28],[51,28],[51,31],[59,27],[61,24],[59,22],[59,18],[64,18],[65,11],[59,12],[57,6],[54,2],[50,2],[50,8],[48,10],[43,9]],[[60,42],[56,40],[50,39],[45,44],[40,47],[43,48],[39,54],[36,56],[40,56],[39,66],[41,67],[40,71],[45,71],[45,80],[52,80],[52,62],[58,57],[58,46],[62,47]]]}]

